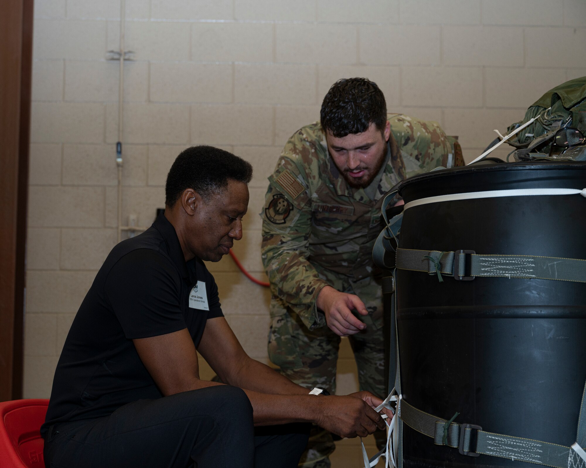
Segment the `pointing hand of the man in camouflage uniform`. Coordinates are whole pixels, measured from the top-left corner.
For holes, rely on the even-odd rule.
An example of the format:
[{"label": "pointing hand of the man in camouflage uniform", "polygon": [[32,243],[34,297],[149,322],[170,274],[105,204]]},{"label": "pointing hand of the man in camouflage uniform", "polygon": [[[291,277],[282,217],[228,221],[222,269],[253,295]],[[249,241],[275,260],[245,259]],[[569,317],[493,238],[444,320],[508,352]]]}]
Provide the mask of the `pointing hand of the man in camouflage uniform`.
[{"label": "pointing hand of the man in camouflage uniform", "polygon": [[360,315],[368,315],[364,302],[357,295],[324,286],[319,291],[316,305],[322,309],[326,316],[326,324],[336,335],[354,335],[366,328],[366,324],[352,314],[352,309],[356,309]]}]

